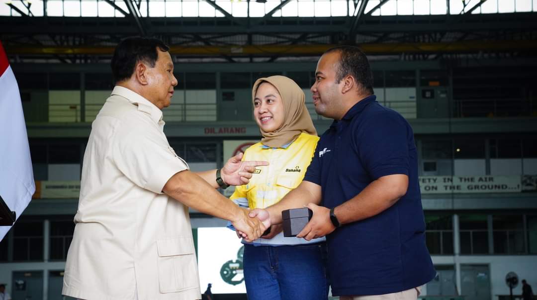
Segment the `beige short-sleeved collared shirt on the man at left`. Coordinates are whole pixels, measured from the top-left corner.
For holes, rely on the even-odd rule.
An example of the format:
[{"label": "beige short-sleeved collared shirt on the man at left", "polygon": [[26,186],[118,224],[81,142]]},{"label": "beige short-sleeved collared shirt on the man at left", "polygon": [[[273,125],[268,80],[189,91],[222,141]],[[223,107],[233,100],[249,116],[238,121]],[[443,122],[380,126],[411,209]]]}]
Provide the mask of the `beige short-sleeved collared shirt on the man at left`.
[{"label": "beige short-sleeved collared shirt on the man at left", "polygon": [[82,299],[200,299],[188,208],[162,188],[188,169],[162,111],[115,87],[92,124],[62,294]]}]

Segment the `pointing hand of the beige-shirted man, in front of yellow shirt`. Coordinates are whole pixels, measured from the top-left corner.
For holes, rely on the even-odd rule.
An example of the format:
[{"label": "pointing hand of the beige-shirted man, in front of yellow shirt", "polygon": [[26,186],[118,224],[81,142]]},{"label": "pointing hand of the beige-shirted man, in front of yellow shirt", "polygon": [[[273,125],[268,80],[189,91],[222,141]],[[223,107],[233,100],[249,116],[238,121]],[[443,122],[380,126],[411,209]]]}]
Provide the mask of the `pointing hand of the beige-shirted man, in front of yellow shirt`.
[{"label": "pointing hand of the beige-shirted man, in front of yellow shirt", "polygon": [[257,166],[268,166],[268,161],[248,160],[241,161],[243,154],[239,153],[228,159],[222,168],[220,175],[222,180],[229,185],[243,185],[250,182],[252,173]]}]

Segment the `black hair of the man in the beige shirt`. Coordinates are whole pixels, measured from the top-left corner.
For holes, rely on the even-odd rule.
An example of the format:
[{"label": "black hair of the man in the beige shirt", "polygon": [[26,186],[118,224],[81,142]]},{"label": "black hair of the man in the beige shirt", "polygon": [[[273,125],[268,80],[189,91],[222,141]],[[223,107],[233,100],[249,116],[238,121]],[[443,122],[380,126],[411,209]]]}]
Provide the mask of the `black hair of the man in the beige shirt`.
[{"label": "black hair of the man in the beige shirt", "polygon": [[110,62],[114,82],[130,78],[139,61],[155,67],[158,59],[157,48],[164,52],[170,49],[163,41],[156,38],[130,37],[120,41],[115,47],[114,56]]}]

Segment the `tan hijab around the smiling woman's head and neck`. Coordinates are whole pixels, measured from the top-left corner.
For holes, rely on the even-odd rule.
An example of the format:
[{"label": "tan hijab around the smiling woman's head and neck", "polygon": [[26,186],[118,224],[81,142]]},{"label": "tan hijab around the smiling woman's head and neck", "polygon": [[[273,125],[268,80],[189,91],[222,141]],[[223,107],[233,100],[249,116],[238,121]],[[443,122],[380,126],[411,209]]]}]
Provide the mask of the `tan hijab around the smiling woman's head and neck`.
[{"label": "tan hijab around the smiling woman's head and neck", "polygon": [[284,102],[284,123],[273,132],[265,132],[261,128],[259,131],[263,135],[261,142],[263,145],[278,148],[288,142],[293,141],[300,133],[317,135],[317,131],[311,122],[304,92],[291,78],[275,75],[266,78],[259,78],[252,88],[252,103],[256,98],[257,88],[263,82],[268,82],[278,90],[281,100]]}]

